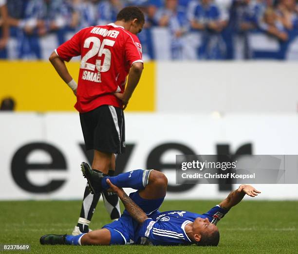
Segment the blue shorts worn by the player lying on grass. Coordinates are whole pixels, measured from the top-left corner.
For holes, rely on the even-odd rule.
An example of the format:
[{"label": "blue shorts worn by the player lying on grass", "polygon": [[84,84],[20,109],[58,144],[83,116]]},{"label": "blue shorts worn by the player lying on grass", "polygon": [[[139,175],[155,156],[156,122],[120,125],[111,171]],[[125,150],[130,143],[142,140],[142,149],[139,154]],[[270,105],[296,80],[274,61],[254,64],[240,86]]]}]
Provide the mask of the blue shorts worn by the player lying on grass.
[{"label": "blue shorts worn by the player lying on grass", "polygon": [[[158,209],[165,198],[156,200],[145,200],[139,195],[139,191],[130,193],[130,199],[133,200],[141,209],[150,217],[159,213]],[[131,244],[137,240],[137,231],[139,224],[130,216],[127,210],[124,210],[122,216],[102,228],[106,228],[111,233],[110,245],[114,244]]]}]

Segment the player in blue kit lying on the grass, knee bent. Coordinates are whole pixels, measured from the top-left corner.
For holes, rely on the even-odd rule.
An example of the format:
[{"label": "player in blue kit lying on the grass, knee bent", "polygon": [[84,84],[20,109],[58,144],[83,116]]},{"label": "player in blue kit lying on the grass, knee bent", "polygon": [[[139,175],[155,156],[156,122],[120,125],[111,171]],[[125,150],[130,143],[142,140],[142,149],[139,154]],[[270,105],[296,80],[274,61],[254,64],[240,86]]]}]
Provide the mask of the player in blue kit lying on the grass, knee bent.
[{"label": "player in blue kit lying on the grass, knee bent", "polygon": [[[156,170],[134,170],[107,177],[96,172],[87,163],[81,165],[93,193],[111,189],[122,200],[126,210],[121,218],[105,225],[102,229],[81,234],[41,236],[41,244],[68,245],[114,245],[114,244],[152,244],[217,246],[219,231],[217,222],[238,204],[245,194],[258,196],[260,191],[250,185],[242,184],[231,192],[219,205],[204,214],[187,211],[159,212],[166,196],[167,177]],[[136,189],[126,195],[122,187]]]}]

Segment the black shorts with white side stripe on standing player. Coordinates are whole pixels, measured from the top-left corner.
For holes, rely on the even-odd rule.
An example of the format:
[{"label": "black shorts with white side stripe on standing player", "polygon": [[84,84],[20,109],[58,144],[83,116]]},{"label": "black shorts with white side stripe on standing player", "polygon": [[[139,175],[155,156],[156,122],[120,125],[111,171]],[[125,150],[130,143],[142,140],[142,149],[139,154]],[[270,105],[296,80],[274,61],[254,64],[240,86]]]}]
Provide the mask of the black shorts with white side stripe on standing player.
[{"label": "black shorts with white side stripe on standing player", "polygon": [[123,110],[103,105],[80,113],[86,150],[94,149],[115,154],[125,150],[125,123]]}]

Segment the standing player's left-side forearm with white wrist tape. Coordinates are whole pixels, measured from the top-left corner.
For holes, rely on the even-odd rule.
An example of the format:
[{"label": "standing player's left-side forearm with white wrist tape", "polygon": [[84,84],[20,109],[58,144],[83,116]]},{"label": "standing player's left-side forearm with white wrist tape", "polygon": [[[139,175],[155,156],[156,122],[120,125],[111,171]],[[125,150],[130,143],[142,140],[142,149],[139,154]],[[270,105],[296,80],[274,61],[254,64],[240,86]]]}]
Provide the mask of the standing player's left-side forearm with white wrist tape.
[{"label": "standing player's left-side forearm with white wrist tape", "polygon": [[77,84],[75,83],[74,79],[68,72],[64,60],[62,60],[56,54],[55,51],[50,55],[49,60],[50,60],[51,64],[54,66],[54,68],[55,68],[56,72],[59,74],[59,76],[74,91],[74,93],[76,95]]}]

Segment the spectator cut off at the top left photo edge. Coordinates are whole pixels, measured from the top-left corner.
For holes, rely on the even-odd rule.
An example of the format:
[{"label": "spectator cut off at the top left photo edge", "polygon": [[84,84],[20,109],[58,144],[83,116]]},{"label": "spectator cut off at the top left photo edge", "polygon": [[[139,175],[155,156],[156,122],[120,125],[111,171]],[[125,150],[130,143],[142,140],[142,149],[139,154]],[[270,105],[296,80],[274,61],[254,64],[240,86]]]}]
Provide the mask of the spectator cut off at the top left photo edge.
[{"label": "spectator cut off at the top left photo edge", "polygon": [[7,58],[6,45],[9,37],[6,0],[0,0],[0,58]]}]

